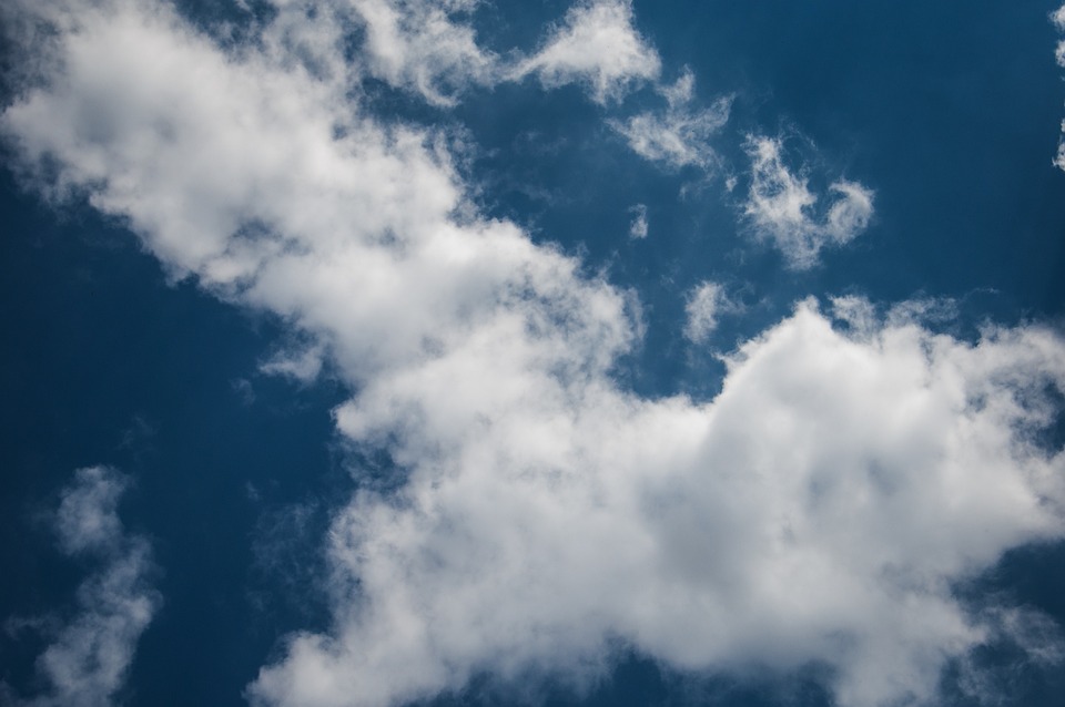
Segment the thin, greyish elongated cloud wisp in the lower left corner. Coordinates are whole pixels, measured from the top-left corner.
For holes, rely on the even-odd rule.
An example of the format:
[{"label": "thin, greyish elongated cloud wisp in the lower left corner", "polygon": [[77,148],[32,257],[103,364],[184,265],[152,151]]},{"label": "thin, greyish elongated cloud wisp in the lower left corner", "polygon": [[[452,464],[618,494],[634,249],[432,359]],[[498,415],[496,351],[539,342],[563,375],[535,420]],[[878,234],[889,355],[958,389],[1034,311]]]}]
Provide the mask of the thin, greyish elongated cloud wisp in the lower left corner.
[{"label": "thin, greyish elongated cloud wisp in the lower left corner", "polygon": [[129,481],[105,467],[80,469],[63,489],[54,526],[60,549],[101,563],[78,587],[78,614],[37,659],[43,685],[26,707],[105,707],[114,704],[136,642],[159,608],[151,587],[151,547],[125,532],[118,502]]}]

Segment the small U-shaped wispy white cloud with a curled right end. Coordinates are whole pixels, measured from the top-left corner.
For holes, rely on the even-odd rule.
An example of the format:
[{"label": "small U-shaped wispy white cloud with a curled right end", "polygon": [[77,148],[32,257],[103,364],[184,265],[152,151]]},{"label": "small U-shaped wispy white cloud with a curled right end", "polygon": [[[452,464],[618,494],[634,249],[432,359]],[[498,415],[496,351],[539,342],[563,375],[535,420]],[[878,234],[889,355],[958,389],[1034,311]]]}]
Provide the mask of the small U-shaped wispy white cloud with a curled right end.
[{"label": "small U-shaped wispy white cloud with a curled right end", "polygon": [[751,187],[743,212],[755,237],[771,240],[789,267],[805,269],[816,264],[823,248],[849,243],[865,229],[873,215],[873,193],[856,182],[834,182],[829,189],[835,199],[819,218],[818,195],[804,176],[788,168],[781,150],[778,139],[748,139]]}]

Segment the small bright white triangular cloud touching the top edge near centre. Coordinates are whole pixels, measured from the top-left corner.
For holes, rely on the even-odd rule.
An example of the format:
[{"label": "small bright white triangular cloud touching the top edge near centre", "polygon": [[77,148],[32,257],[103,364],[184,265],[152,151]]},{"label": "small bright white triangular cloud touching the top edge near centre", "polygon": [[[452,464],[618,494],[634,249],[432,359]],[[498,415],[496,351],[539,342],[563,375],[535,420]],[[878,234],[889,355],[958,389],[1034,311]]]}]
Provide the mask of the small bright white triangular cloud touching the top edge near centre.
[{"label": "small bright white triangular cloud touching the top edge near centre", "polygon": [[598,103],[607,103],[660,70],[658,52],[632,27],[630,0],[582,0],[515,74],[535,73],[546,86],[584,83]]}]

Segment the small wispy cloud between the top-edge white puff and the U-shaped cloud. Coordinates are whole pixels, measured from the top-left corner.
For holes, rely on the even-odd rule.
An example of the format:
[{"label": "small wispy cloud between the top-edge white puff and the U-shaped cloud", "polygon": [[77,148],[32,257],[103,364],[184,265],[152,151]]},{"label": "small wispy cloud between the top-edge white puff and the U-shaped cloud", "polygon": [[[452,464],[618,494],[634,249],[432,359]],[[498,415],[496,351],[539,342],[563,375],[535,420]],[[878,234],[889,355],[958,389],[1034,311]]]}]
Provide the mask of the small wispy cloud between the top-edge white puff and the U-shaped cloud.
[{"label": "small wispy cloud between the top-edge white puff and the U-shaped cloud", "polygon": [[686,71],[676,84],[662,90],[668,101],[665,111],[610,121],[610,126],[645,160],[672,170],[687,165],[709,168],[717,157],[710,137],[729,121],[732,99],[721,98],[708,109],[693,109],[693,74]]}]

